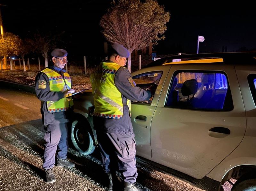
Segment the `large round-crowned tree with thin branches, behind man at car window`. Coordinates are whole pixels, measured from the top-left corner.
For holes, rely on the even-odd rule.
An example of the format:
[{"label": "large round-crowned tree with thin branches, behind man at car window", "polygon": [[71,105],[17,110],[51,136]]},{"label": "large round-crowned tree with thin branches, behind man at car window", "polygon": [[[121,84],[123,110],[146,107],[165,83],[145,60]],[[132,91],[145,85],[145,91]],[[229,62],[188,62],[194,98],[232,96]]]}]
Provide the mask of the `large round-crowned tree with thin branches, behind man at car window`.
[{"label": "large round-crowned tree with thin branches, behind man at car window", "polygon": [[[109,42],[122,44],[132,53],[164,39],[169,19],[170,13],[155,0],[114,0],[102,16],[100,26]],[[131,59],[128,69],[131,71]]]}]

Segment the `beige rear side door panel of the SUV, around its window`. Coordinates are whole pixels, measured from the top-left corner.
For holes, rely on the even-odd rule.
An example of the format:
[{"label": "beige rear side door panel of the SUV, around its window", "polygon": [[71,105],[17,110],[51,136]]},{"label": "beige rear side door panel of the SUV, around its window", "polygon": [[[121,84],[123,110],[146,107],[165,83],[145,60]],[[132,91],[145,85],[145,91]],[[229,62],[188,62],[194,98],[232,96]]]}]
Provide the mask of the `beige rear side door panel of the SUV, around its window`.
[{"label": "beige rear side door panel of the SUV, around its window", "polygon": [[[201,64],[172,65],[162,92],[168,92],[177,70],[202,70]],[[234,109],[201,111],[164,107],[166,94],[161,94],[151,124],[152,160],[194,178],[201,179],[228,156],[242,141],[246,121],[240,89],[233,65],[204,65],[202,71],[225,71]],[[159,125],[161,123],[161,125]],[[209,129],[224,127],[230,135],[211,135]],[[218,133],[217,133],[218,134]]]}]

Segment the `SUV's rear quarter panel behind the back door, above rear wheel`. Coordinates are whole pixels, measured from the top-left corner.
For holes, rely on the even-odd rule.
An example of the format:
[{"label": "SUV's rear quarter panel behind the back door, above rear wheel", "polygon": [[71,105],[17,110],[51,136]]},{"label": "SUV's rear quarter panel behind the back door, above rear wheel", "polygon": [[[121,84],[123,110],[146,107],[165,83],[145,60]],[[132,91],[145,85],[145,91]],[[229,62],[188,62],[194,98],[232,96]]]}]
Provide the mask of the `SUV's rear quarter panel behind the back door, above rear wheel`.
[{"label": "SUV's rear quarter panel behind the back door, above rear wheel", "polygon": [[256,165],[256,107],[247,80],[248,75],[256,74],[256,66],[241,64],[235,68],[246,111],[246,132],[242,143],[207,174],[207,177],[217,181],[221,181],[223,176],[236,166]]}]

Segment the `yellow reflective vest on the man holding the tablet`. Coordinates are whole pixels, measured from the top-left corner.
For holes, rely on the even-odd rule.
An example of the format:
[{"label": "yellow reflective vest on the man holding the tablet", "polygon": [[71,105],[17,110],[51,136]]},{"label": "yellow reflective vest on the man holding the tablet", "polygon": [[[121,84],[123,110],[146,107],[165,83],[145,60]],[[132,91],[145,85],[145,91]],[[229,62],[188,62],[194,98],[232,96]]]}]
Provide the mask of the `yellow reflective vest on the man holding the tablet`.
[{"label": "yellow reflective vest on the man holding the tablet", "polygon": [[[49,68],[46,68],[41,72],[47,75],[51,92],[64,92],[71,89],[71,78],[67,72],[65,72],[63,76]],[[63,112],[68,110],[73,105],[74,103],[71,97],[62,98],[58,101],[47,101],[47,110],[49,113]]]}]

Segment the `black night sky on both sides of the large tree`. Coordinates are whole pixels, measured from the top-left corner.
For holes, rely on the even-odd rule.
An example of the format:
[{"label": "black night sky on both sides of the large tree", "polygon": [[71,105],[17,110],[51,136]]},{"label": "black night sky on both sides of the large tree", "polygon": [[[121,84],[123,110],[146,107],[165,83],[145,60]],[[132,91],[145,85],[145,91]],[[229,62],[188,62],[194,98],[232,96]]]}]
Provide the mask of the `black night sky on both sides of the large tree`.
[{"label": "black night sky on both sides of the large tree", "polygon": [[[197,36],[199,53],[252,51],[256,49],[256,11],[245,1],[224,5],[224,1],[190,2],[164,1],[165,11],[171,19],[167,23],[165,40],[154,47],[158,55],[196,53]],[[103,42],[99,21],[110,5],[110,0],[84,1],[12,1],[0,0],[4,32],[21,38],[36,29],[64,33],[70,56],[103,55]],[[63,45],[64,46],[64,45]],[[256,51],[256,50],[255,50]]]}]

